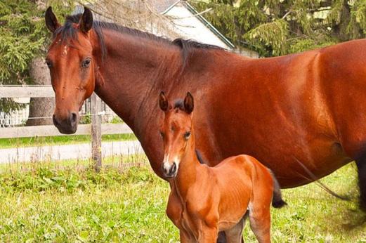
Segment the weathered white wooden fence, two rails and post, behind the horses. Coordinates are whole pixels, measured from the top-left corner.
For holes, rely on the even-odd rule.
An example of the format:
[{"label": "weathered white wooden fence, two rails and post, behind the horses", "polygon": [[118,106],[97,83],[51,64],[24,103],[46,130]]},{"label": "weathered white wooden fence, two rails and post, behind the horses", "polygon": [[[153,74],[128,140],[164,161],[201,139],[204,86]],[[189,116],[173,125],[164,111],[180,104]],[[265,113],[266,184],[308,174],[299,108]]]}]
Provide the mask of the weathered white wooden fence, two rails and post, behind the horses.
[{"label": "weathered white wooden fence, two rails and post, behind the horses", "polygon": [[[1,86],[0,98],[29,98],[29,97],[54,97],[51,86]],[[100,116],[101,100],[93,93],[91,98],[91,124],[79,125],[77,132],[67,136],[91,134],[92,158],[96,170],[101,166],[101,136],[102,134],[132,133],[126,124],[102,124]],[[24,138],[34,136],[64,136],[53,125],[49,126],[20,126],[0,128],[0,138]]]}]

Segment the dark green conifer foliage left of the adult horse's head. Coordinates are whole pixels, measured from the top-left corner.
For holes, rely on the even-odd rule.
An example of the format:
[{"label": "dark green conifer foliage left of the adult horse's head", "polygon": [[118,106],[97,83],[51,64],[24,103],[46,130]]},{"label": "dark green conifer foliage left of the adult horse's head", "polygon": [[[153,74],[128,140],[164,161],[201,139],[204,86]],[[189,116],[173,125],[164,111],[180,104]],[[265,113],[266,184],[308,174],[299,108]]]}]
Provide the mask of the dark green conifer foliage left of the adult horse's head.
[{"label": "dark green conifer foliage left of the adult horse's head", "polygon": [[[51,34],[44,24],[44,8],[38,1],[0,1],[0,84],[30,84],[28,70],[32,59],[43,55]],[[55,13],[63,20],[70,13],[73,1],[53,0]],[[39,1],[38,4],[44,4]],[[9,99],[1,99],[0,110],[9,112],[20,107]]]}]

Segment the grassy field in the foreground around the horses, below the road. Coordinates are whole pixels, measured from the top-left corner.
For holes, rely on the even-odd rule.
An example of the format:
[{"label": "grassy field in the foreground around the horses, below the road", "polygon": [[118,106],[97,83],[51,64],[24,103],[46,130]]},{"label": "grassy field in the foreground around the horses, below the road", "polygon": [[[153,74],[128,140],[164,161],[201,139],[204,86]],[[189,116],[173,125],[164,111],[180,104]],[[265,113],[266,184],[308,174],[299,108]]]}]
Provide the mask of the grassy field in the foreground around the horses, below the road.
[{"label": "grassy field in the foreground around the horses, below the road", "polygon": [[[0,242],[178,242],[164,212],[169,186],[148,164],[100,173],[70,164],[3,168]],[[273,242],[366,242],[355,172],[349,164],[322,180],[351,202],[315,184],[283,190],[289,206],[272,210]],[[244,237],[256,242],[248,224]]]}]

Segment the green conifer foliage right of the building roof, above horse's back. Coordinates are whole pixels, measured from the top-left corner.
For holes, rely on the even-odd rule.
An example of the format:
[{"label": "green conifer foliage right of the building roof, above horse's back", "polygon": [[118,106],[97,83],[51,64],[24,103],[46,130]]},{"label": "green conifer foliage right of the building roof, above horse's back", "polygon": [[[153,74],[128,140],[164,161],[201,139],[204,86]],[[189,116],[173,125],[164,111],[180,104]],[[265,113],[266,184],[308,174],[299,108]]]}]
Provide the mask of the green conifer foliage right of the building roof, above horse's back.
[{"label": "green conifer foliage right of the building roof, above horse's back", "polygon": [[273,56],[364,38],[366,0],[190,1],[239,48]]}]

